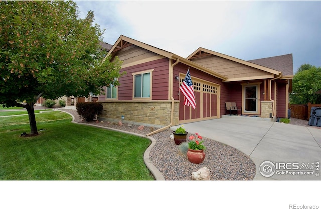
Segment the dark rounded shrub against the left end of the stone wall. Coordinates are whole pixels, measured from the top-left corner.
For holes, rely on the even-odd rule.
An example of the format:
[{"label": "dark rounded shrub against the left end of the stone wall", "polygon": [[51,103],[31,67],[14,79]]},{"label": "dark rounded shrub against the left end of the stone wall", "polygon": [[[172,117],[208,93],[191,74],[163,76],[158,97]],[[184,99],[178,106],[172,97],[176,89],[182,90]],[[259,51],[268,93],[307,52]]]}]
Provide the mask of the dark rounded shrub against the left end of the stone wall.
[{"label": "dark rounded shrub against the left end of the stone wall", "polygon": [[86,121],[93,121],[94,118],[102,113],[102,103],[98,102],[80,102],[76,104],[77,113]]}]

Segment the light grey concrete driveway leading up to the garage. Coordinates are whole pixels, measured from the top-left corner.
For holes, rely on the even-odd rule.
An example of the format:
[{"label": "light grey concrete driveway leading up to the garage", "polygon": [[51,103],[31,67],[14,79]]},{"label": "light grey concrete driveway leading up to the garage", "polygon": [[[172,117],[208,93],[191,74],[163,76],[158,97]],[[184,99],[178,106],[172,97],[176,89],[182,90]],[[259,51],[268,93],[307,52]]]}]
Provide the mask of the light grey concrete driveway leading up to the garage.
[{"label": "light grey concrete driveway leading up to the garage", "polygon": [[321,129],[229,118],[187,123],[184,128],[248,155],[256,165],[254,180],[321,180]]}]

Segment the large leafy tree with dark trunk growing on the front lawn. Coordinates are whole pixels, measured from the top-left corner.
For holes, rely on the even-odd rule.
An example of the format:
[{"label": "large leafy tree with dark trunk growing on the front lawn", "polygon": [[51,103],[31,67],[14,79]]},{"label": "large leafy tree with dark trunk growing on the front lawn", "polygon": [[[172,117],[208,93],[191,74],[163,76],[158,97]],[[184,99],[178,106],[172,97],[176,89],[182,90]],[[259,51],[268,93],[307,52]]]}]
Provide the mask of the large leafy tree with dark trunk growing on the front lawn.
[{"label": "large leafy tree with dark trunk growing on the front lawn", "polygon": [[121,63],[104,60],[103,32],[94,13],[81,19],[72,1],[0,1],[0,103],[26,108],[37,135],[40,96],[88,96],[119,85]]}]

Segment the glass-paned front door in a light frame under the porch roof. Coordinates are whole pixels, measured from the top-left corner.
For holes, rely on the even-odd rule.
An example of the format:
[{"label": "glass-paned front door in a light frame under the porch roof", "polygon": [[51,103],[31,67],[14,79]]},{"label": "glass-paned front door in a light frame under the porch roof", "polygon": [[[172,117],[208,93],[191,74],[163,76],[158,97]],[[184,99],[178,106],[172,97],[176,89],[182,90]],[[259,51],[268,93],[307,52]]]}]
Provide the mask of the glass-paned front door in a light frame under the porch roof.
[{"label": "glass-paned front door in a light frame under the porch roof", "polygon": [[258,113],[259,85],[243,86],[244,112]]}]

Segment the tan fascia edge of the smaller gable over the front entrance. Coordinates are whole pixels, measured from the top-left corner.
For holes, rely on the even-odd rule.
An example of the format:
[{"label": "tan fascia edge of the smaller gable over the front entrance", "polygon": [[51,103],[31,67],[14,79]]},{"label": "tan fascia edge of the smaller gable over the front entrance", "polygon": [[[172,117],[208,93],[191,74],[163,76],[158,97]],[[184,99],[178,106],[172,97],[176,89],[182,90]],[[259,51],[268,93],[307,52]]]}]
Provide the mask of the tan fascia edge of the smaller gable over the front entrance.
[{"label": "tan fascia edge of the smaller gable over the front entrance", "polygon": [[238,58],[235,58],[235,57],[232,57],[232,56],[229,56],[229,55],[225,55],[225,54],[222,54],[222,53],[219,53],[219,52],[214,52],[212,50],[208,50],[208,49],[205,49],[205,48],[202,48],[202,47],[200,47],[197,50],[195,50],[186,59],[191,60],[193,58],[198,58],[198,57],[203,57],[203,56],[208,56],[208,55],[215,55],[215,56],[218,56],[218,57],[222,57],[222,58],[225,58],[225,59],[237,62],[237,63],[241,63],[243,65],[247,65],[247,66],[259,69],[259,70],[266,71],[268,73],[272,73],[274,75],[279,75],[281,73],[278,70],[271,69],[271,68],[268,68],[266,66],[262,66],[262,65],[258,65],[256,63],[252,63],[252,62],[249,62],[249,61],[241,60],[241,59],[238,59]]}]

